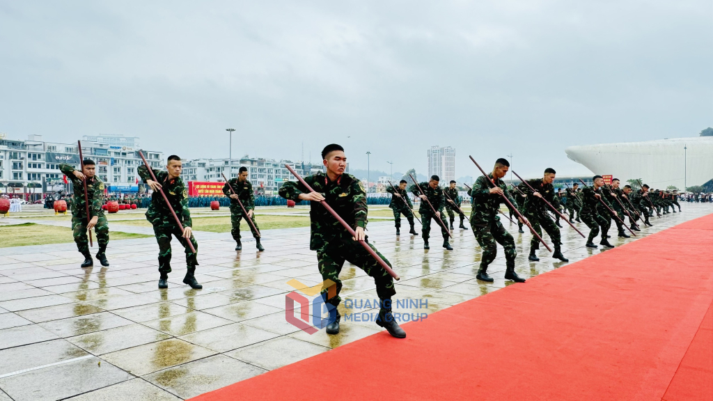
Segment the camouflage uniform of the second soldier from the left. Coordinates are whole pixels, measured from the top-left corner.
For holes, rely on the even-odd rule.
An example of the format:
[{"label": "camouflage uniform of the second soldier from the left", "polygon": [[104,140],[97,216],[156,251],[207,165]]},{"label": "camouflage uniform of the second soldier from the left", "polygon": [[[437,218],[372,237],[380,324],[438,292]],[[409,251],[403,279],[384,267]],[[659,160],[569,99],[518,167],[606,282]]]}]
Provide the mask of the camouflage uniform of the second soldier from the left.
[{"label": "camouflage uniform of the second soldier from the left", "polygon": [[[136,171],[144,183],[153,179],[145,165],[139,166]],[[178,220],[184,228],[191,227],[193,221],[190,219],[190,210],[188,210],[188,190],[185,188],[183,180],[180,177],[169,180],[167,171],[153,170],[153,173],[157,182],[163,186],[163,193],[168,198]],[[193,235],[190,236],[190,242],[193,243],[193,248],[196,250],[196,253],[193,253],[188,247],[188,241],[183,238],[183,231],[180,230],[159,191],[154,191],[151,196],[151,203],[146,210],[146,220],[153,225],[153,232],[156,235],[156,242],[158,242],[158,271],[162,275],[171,272],[171,235],[175,235],[180,245],[185,248],[185,263],[188,265],[188,270],[195,270],[195,266],[198,265],[198,242]]]}]

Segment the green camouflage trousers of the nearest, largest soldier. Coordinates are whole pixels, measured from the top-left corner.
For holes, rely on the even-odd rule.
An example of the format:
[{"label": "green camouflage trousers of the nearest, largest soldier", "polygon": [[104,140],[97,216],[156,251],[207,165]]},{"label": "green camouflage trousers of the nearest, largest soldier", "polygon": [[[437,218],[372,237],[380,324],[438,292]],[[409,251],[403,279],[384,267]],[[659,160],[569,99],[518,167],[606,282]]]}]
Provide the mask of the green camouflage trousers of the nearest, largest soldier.
[{"label": "green camouflage trousers of the nearest, largest soldier", "polygon": [[[369,244],[369,246],[391,267],[389,260],[386,260],[384,255],[381,255],[381,253],[374,248],[374,245]],[[337,296],[327,300],[327,303],[337,306],[342,301],[342,298],[339,298],[339,291],[342,290],[342,280],[339,280],[339,272],[342,271],[345,260],[361,268],[361,270],[364,270],[364,273],[374,278],[374,283],[376,283],[376,295],[379,295],[379,299],[391,298],[391,296],[396,294],[394,278],[391,278],[389,272],[384,270],[384,268],[379,265],[379,262],[377,262],[361,244],[349,238],[341,241],[334,240],[332,243],[325,245],[324,248],[317,250],[317,261],[319,263],[319,273],[322,274],[322,280],[329,279],[334,281],[334,285],[337,288]],[[326,285],[322,288],[322,296],[324,298],[326,298],[325,295],[328,289],[329,287]]]}]

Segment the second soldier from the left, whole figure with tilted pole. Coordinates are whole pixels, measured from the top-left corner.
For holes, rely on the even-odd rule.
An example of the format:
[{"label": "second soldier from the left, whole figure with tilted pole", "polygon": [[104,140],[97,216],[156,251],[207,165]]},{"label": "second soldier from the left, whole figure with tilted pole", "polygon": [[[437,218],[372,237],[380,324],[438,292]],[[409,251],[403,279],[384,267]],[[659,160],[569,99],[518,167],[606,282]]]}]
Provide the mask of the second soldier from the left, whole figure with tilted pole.
[{"label": "second soldier from the left, whole figure with tilted pole", "polygon": [[[156,242],[158,242],[158,272],[160,273],[158,288],[168,288],[168,273],[171,272],[171,235],[175,235],[178,242],[185,248],[185,263],[188,270],[183,278],[183,283],[200,290],[203,286],[195,280],[195,266],[198,265],[198,242],[193,237],[193,228],[191,228],[193,221],[190,219],[190,210],[188,210],[188,190],[180,178],[182,169],[183,164],[180,157],[171,155],[168,156],[166,171],[151,169],[158,181],[153,181],[148,167],[145,165],[139,166],[136,171],[143,182],[153,189],[151,203],[146,210],[146,220],[153,225],[153,232],[156,235]],[[163,193],[183,225],[183,231],[161,196],[160,189],[163,189]],[[196,253],[190,250],[189,240],[193,243]]]}]

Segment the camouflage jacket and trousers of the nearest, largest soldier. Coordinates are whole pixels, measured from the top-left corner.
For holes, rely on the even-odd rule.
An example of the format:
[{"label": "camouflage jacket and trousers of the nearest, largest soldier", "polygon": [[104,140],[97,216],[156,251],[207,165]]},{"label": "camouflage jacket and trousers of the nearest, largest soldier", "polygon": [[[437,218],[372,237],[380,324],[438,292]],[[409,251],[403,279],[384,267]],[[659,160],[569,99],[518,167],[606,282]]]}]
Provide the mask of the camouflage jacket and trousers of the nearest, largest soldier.
[{"label": "camouflage jacket and trousers of the nearest, largest soldier", "polygon": [[[366,191],[361,181],[347,173],[342,174],[337,181],[329,181],[329,178],[322,172],[305,177],[304,181],[314,191],[322,193],[327,204],[350,227],[366,228]],[[309,190],[302,183],[293,181],[288,181],[279,188],[279,196],[295,202],[299,201],[300,194],[308,192]],[[388,299],[396,294],[394,279],[391,278],[389,272],[381,268],[379,262],[361,244],[352,239],[352,235],[327,211],[327,208],[324,208],[318,202],[310,202],[309,218],[311,220],[309,249],[317,251],[319,273],[322,274],[322,280],[332,280],[335,283],[336,296],[325,300],[326,303],[337,307],[342,300],[342,298],[339,298],[339,291],[342,290],[342,280],[339,280],[339,272],[342,271],[344,261],[358,266],[367,275],[374,278],[376,294],[379,295],[380,299]],[[384,258],[384,255],[381,255],[373,245],[369,244],[369,246],[387,265],[391,266],[391,263]],[[329,285],[324,283],[322,288],[323,298],[327,298],[328,289]]]}]

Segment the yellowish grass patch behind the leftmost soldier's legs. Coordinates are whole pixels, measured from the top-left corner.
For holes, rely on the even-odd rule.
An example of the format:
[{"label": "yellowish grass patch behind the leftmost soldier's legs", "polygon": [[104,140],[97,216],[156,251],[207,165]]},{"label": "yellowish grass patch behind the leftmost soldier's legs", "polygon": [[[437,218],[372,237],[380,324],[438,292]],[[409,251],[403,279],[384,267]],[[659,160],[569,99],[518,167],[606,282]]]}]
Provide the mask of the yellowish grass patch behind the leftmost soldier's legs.
[{"label": "yellowish grass patch behind the leftmost soldier's legs", "polygon": [[[134,238],[148,238],[151,235],[111,232],[109,231],[109,241],[111,240],[132,240]],[[26,245],[46,245],[51,243],[73,243],[72,230],[68,227],[56,227],[54,225],[41,225],[35,223],[23,223],[15,225],[0,225],[0,248]],[[94,235],[96,241],[96,235]]]}]

